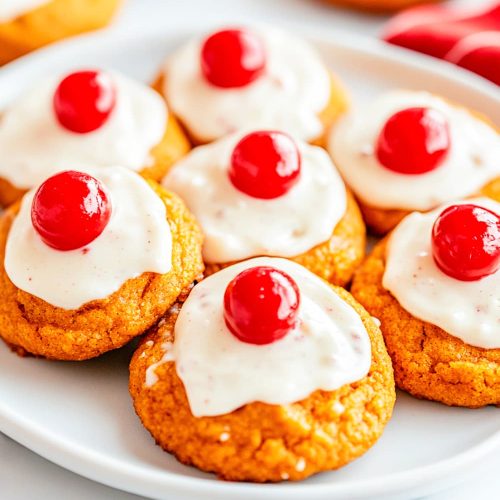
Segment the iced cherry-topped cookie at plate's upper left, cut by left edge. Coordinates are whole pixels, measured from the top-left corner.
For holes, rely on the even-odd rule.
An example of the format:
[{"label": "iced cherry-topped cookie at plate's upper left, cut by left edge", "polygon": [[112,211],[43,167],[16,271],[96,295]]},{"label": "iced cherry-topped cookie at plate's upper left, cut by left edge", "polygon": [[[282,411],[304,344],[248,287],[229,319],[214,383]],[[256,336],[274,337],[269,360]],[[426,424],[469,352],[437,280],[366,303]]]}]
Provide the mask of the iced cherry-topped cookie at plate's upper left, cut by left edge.
[{"label": "iced cherry-topped cookie at plate's upper left, cut by left edge", "polygon": [[189,149],[164,100],[146,85],[95,70],[49,78],[0,121],[0,204],[67,165],[121,165],[160,180]]}]

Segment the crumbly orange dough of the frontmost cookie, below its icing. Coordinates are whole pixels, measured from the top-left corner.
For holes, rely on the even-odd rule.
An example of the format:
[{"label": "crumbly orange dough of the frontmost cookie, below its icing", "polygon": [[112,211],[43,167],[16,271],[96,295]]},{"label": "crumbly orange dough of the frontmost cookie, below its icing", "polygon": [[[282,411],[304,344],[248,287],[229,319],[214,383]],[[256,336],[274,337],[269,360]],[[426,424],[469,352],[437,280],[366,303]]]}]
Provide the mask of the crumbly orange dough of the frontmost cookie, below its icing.
[{"label": "crumbly orange dough of the frontmost cookie, below its icing", "polygon": [[[372,345],[366,377],[332,392],[316,391],[290,405],[251,403],[227,415],[195,418],[173,362],[161,363],[172,342],[178,308],[141,342],[130,364],[137,414],[157,444],[179,461],[234,481],[300,480],[337,469],[380,437],[395,401],[392,366],[373,319],[342,288],[335,292],[361,316]],[[203,332],[200,332],[203,335]],[[157,382],[145,386],[146,371]]]}]

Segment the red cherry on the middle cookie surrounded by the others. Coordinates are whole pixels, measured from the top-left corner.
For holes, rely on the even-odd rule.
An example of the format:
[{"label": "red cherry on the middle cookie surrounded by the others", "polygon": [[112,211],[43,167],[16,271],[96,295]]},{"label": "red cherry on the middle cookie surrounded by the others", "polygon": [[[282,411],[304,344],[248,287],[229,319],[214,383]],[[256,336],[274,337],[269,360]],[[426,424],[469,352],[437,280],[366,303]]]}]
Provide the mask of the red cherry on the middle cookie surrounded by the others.
[{"label": "red cherry on the middle cookie surrounded by the others", "polygon": [[296,184],[300,152],[282,132],[252,132],[238,142],[231,155],[229,179],[254,198],[277,198]]}]

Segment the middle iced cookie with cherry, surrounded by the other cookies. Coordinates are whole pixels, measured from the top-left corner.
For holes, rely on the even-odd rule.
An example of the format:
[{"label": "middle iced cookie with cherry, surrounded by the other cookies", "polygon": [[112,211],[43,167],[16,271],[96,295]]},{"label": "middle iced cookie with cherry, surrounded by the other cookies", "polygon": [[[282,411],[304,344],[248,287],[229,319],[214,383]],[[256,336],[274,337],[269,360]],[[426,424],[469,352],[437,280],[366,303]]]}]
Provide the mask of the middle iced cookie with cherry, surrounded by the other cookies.
[{"label": "middle iced cookie with cherry, surrounded by the other cookies", "polygon": [[199,146],[163,185],[199,221],[208,274],[268,255],[345,285],[363,259],[363,220],[330,158],[283,132],[240,133]]}]

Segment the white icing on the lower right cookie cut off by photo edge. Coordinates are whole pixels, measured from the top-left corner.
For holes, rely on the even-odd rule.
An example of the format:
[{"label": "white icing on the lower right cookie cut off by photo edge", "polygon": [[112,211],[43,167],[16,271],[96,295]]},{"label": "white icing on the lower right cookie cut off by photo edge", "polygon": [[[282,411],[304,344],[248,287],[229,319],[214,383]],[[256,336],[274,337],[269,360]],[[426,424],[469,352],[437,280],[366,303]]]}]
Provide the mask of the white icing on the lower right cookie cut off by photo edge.
[{"label": "white icing on the lower right cookie cut off by photo edge", "polygon": [[[500,203],[474,203],[500,214]],[[431,233],[445,207],[408,215],[390,237],[384,288],[410,314],[432,323],[465,343],[500,348],[500,271],[478,281],[460,281],[443,273],[432,257]]]}]

